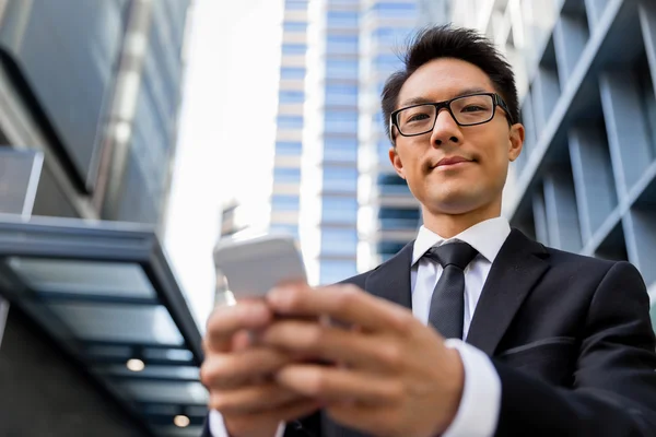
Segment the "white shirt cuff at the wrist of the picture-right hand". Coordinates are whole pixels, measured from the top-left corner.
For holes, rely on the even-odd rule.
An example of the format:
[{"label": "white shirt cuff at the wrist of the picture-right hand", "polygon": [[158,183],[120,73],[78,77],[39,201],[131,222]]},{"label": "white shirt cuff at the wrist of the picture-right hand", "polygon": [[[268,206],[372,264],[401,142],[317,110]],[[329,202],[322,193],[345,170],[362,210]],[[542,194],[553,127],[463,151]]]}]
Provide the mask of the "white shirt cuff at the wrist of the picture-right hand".
[{"label": "white shirt cuff at the wrist of the picture-right hand", "polygon": [[456,417],[443,437],[492,437],[501,410],[501,379],[494,365],[484,352],[461,340],[449,339],[445,345],[460,354],[465,388]]}]

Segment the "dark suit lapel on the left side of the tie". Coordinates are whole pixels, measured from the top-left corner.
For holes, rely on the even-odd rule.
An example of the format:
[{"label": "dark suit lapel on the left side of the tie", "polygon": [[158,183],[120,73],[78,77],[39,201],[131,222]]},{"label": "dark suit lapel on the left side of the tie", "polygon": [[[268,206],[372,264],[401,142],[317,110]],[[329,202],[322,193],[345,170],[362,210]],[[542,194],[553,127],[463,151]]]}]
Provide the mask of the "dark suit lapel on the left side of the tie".
[{"label": "dark suit lapel on the left side of the tie", "polygon": [[414,241],[408,243],[398,253],[378,265],[366,279],[365,290],[411,309],[410,263],[413,247]]}]

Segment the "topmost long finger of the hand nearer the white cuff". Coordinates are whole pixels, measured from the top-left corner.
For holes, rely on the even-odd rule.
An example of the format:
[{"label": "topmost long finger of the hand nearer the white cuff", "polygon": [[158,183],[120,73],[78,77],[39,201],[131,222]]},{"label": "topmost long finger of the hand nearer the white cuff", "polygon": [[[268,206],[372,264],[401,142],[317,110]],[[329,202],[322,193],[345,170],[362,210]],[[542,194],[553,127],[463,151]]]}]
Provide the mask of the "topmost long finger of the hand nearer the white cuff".
[{"label": "topmost long finger of the hand nearer the white cuff", "polygon": [[375,297],[354,285],[338,285],[315,291],[281,286],[267,295],[267,302],[278,314],[328,316],[330,319],[356,324],[370,331],[406,331],[414,321],[407,308]]}]

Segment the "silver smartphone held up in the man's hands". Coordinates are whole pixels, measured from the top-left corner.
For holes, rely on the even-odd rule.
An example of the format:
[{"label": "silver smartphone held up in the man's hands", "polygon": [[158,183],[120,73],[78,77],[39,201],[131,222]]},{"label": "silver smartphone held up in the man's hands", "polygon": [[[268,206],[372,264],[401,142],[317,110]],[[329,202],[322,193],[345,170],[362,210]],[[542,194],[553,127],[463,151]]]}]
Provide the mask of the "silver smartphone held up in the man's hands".
[{"label": "silver smartphone held up in the man's hands", "polygon": [[263,297],[280,283],[307,281],[301,250],[285,235],[220,240],[214,265],[218,276],[225,279],[220,285],[235,299]]}]

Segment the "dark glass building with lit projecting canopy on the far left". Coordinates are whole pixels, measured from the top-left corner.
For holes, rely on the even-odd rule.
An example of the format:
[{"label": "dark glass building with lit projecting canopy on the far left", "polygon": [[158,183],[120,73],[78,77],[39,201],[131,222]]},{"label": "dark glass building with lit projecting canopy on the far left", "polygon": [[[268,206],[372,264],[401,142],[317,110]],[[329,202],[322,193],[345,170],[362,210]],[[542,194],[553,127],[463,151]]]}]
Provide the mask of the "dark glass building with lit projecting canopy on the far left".
[{"label": "dark glass building with lit projecting canopy on the far left", "polygon": [[[188,7],[0,2],[0,145],[43,154],[32,214],[48,216],[1,221],[2,435],[185,435],[176,416],[199,433],[199,333],[152,231],[164,225]],[[141,238],[143,259],[130,253]],[[137,357],[142,374],[126,367]]]}]

